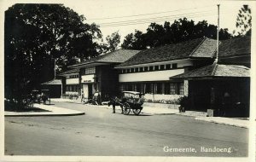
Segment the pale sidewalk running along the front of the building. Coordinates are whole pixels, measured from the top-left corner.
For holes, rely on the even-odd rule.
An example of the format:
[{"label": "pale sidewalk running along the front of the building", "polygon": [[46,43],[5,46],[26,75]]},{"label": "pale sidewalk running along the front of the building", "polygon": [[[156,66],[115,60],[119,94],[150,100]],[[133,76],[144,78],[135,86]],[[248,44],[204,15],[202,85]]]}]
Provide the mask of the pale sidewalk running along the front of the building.
[{"label": "pale sidewalk running along the front of the building", "polygon": [[[77,100],[69,100],[69,99],[52,99],[52,101],[67,101],[67,102],[73,102],[78,104],[83,104],[81,101]],[[112,109],[112,107],[108,107],[106,105],[91,105],[94,107],[104,107],[108,109]],[[120,107],[116,107],[116,109],[121,109]],[[154,115],[167,115],[167,114],[178,114],[183,116],[192,116],[195,117],[196,120],[201,121],[207,121],[212,122],[216,124],[226,124],[241,128],[248,128],[249,127],[249,120],[248,119],[231,119],[231,118],[222,118],[222,117],[207,117],[207,113],[202,112],[192,112],[192,111],[186,111],[185,113],[179,113],[177,109],[171,109],[171,108],[162,108],[162,107],[143,107],[142,113],[149,113]]]}]

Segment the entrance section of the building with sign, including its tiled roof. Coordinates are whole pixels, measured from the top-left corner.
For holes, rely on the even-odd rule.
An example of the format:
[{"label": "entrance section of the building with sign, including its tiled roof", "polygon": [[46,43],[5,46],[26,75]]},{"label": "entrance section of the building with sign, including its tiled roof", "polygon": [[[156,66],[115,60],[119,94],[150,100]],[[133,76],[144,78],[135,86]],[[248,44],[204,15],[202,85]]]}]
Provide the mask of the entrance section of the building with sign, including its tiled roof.
[{"label": "entrance section of the building with sign, including its tiled roof", "polygon": [[105,55],[99,55],[89,61],[80,62],[70,68],[78,69],[80,92],[84,92],[84,98],[91,98],[99,92],[102,100],[118,93],[118,70],[114,66],[127,61],[138,50],[119,49]]}]

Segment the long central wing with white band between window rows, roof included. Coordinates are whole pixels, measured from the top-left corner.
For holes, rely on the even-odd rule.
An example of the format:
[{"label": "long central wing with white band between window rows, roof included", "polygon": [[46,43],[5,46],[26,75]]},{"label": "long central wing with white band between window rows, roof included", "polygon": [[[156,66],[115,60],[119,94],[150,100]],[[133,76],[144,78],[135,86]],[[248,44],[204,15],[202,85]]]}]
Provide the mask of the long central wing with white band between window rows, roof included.
[{"label": "long central wing with white band between window rows, roof included", "polygon": [[143,50],[116,67],[119,90],[143,92],[146,101],[175,101],[188,94],[188,82],[169,78],[211,64],[215,50],[216,40],[209,38]]}]

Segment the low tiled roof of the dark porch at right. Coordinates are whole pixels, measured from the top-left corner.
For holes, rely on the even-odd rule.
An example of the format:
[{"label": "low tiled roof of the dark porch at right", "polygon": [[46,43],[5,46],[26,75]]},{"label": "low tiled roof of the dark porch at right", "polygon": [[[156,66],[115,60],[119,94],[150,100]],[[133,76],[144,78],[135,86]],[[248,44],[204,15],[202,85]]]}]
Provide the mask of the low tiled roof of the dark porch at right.
[{"label": "low tiled roof of the dark porch at right", "polygon": [[172,78],[212,78],[212,77],[250,77],[250,69],[244,66],[212,65],[201,67]]}]

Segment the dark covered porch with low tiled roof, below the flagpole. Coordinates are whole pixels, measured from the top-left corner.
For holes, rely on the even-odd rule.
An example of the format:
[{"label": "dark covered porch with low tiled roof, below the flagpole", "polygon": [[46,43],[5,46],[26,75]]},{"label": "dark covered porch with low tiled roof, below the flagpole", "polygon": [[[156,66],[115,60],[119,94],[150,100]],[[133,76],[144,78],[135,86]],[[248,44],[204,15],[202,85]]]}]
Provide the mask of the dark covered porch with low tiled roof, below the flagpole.
[{"label": "dark covered porch with low tiled roof, below the flagpole", "polygon": [[249,68],[212,64],[170,79],[188,80],[187,110],[207,112],[213,116],[249,117]]}]

